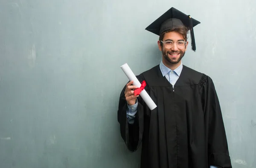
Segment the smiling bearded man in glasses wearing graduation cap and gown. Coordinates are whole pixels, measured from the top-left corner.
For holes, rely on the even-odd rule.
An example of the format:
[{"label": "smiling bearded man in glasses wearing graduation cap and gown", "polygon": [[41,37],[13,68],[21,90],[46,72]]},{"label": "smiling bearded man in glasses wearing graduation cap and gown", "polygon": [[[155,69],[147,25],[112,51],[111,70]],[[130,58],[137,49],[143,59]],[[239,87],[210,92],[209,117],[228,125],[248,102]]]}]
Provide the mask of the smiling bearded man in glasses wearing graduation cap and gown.
[{"label": "smiling bearded man in glasses wearing graduation cap and gown", "polygon": [[129,151],[142,144],[141,168],[232,168],[227,138],[212,79],[182,64],[190,30],[197,20],[175,8],[146,30],[159,35],[159,65],[138,75],[157,108],[134,95],[133,81],[123,88],[118,122]]}]

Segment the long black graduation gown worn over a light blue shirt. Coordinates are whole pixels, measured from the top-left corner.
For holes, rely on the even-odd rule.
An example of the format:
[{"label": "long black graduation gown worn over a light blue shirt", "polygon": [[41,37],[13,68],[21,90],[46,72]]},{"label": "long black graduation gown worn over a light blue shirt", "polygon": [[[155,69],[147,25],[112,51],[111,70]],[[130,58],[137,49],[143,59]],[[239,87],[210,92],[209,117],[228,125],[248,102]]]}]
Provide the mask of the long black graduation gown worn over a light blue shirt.
[{"label": "long black graduation gown worn over a light blue shirt", "polygon": [[221,108],[212,79],[183,65],[174,90],[159,65],[137,76],[146,81],[157,108],[138,97],[134,124],[128,124],[123,88],[120,132],[129,151],[142,144],[141,168],[232,168]]}]

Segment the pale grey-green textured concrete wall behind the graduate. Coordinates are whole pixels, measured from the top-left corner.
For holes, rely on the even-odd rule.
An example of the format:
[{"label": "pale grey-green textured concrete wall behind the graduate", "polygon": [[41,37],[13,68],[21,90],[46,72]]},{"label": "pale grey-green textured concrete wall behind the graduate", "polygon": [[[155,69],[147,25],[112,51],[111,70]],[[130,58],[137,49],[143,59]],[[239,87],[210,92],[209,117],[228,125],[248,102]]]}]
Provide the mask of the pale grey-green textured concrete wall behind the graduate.
[{"label": "pale grey-green textured concrete wall behind the graduate", "polygon": [[233,167],[255,168],[255,0],[1,0],[0,167],[138,168],[119,134],[119,67],[160,62],[145,27],[172,6],[201,21],[183,64],[215,83]]}]

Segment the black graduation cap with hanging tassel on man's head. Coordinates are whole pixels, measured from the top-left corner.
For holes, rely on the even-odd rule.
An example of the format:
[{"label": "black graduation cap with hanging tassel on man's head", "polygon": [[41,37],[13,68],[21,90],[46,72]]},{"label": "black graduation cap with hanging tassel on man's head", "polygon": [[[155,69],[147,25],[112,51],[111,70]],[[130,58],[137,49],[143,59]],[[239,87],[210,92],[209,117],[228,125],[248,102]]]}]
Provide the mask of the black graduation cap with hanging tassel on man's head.
[{"label": "black graduation cap with hanging tassel on man's head", "polygon": [[193,27],[198,24],[200,24],[200,22],[193,19],[190,15],[186,15],[172,7],[145,29],[160,35],[164,31],[172,28],[186,26],[190,30],[192,50],[195,51],[195,35]]}]

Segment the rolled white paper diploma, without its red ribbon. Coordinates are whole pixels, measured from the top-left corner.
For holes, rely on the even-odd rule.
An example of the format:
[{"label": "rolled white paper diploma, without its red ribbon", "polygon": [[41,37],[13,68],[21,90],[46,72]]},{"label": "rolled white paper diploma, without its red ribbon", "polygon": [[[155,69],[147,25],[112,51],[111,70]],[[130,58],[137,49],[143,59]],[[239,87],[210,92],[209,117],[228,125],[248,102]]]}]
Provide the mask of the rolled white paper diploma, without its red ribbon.
[{"label": "rolled white paper diploma, without its red ribbon", "polygon": [[[128,66],[128,64],[125,63],[120,68],[122,69],[122,71],[124,71],[125,75],[128,77],[130,81],[134,81],[133,85],[137,86],[137,88],[140,88],[141,84],[137,77],[134,75],[134,73],[131,71],[131,68]],[[148,108],[150,110],[154,110],[157,107],[157,105],[154,103],[154,101],[151,99],[151,97],[148,95],[145,89],[141,91],[140,96],[148,105]]]}]

